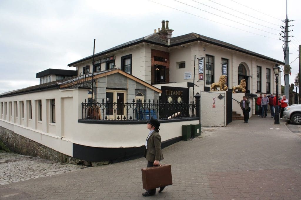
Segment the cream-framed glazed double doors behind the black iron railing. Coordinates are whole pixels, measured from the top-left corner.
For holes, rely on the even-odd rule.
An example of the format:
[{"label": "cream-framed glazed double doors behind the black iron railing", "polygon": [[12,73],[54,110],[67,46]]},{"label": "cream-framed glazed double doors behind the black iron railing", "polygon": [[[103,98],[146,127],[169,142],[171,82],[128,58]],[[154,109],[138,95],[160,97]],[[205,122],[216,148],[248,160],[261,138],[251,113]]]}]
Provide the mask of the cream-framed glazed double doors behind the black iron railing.
[{"label": "cream-framed glazed double doors behind the black iron railing", "polygon": [[122,119],[126,114],[124,108],[126,92],[122,90],[107,90],[106,92],[106,117],[109,120]]}]

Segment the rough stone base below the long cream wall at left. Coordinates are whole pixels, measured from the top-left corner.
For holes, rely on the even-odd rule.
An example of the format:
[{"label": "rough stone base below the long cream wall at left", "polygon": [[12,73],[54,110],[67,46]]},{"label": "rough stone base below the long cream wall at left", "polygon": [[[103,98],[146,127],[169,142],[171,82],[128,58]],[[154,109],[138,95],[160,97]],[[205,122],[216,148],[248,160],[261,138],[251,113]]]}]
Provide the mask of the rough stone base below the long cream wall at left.
[{"label": "rough stone base below the long cream wall at left", "polygon": [[3,141],[5,146],[15,153],[30,156],[38,156],[40,158],[51,160],[54,162],[64,162],[76,165],[84,164],[87,166],[90,166],[92,164],[91,162],[86,162],[83,160],[73,158],[71,156],[67,156],[63,153],[60,153],[56,150],[39,144],[33,140],[18,135],[17,133],[5,129],[2,126],[0,126],[0,141]]}]

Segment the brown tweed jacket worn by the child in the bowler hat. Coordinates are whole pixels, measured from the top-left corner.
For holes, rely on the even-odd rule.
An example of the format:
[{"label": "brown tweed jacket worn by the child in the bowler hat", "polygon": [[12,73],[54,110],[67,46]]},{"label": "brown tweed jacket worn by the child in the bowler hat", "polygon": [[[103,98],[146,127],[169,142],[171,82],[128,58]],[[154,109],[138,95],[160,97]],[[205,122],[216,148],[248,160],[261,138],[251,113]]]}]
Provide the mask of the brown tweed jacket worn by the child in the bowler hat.
[{"label": "brown tweed jacket worn by the child in the bowler hat", "polygon": [[147,140],[147,149],[144,150],[144,158],[150,162],[164,159],[161,152],[161,136],[156,131]]}]

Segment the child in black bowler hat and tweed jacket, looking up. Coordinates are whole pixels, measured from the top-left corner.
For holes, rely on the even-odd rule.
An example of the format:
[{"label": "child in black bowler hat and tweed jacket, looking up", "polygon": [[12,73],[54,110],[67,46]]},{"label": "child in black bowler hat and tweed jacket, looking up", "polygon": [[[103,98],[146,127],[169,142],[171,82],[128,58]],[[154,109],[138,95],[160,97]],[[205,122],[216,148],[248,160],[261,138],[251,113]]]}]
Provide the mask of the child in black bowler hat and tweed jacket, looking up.
[{"label": "child in black bowler hat and tweed jacket, looking up", "polygon": [[[147,122],[146,128],[150,130],[146,142],[144,157],[147,160],[147,167],[153,167],[160,164],[160,160],[163,160],[163,154],[161,152],[161,136],[159,134],[160,122],[155,119],[151,119]],[[160,187],[159,193],[165,188]],[[142,193],[143,196],[151,196],[156,194],[156,188],[148,190]]]}]

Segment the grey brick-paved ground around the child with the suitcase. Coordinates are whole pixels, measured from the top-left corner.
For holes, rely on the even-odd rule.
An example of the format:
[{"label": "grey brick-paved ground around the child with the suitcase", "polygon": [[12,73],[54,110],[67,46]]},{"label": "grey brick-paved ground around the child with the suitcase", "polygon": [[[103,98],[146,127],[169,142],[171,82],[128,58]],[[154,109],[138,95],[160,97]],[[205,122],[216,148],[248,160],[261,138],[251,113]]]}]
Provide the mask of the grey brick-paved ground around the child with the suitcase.
[{"label": "grey brick-paved ground around the child with the suitcase", "polygon": [[301,199],[301,137],[285,122],[252,117],[166,147],[173,185],[151,197],[140,158],[2,185],[0,199]]}]

